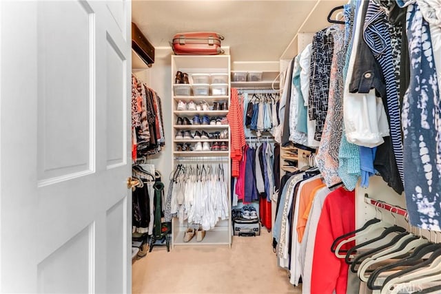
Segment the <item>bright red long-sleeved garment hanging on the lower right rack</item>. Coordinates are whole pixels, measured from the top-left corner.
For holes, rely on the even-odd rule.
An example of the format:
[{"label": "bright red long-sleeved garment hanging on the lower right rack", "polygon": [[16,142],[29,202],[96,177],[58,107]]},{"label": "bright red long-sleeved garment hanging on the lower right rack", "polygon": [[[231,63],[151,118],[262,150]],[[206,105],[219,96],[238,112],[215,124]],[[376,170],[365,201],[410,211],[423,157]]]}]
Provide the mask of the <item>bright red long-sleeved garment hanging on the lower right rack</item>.
[{"label": "bright red long-sleeved garment hanging on the lower right rack", "polygon": [[[346,294],[348,264],[331,251],[336,238],[355,230],[355,191],[329,193],[318,221],[311,273],[311,294]],[[345,244],[346,245],[346,244]],[[345,249],[354,246],[347,244]]]}]

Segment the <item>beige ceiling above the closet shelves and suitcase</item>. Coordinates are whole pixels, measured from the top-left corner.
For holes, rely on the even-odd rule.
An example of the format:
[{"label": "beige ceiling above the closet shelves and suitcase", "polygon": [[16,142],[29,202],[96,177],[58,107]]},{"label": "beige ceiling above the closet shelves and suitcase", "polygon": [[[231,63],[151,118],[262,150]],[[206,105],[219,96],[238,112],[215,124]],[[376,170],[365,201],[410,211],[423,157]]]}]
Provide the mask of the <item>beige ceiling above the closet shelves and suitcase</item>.
[{"label": "beige ceiling above the closet shelves and suitcase", "polygon": [[132,21],[155,48],[170,46],[178,32],[214,31],[225,36],[232,62],[279,61],[285,50],[296,54],[298,32],[325,28],[328,12],[342,2],[134,0]]}]

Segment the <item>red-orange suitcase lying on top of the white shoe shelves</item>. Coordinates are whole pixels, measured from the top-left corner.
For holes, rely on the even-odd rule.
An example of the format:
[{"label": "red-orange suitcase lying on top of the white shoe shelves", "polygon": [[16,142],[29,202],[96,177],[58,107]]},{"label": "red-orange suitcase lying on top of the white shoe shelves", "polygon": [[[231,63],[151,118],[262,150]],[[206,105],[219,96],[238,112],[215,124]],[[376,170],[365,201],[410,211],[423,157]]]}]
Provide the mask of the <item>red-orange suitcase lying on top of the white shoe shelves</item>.
[{"label": "red-orange suitcase lying on top of the white shoe shelves", "polygon": [[223,39],[216,32],[182,32],[173,36],[172,48],[176,55],[223,54],[220,48]]}]

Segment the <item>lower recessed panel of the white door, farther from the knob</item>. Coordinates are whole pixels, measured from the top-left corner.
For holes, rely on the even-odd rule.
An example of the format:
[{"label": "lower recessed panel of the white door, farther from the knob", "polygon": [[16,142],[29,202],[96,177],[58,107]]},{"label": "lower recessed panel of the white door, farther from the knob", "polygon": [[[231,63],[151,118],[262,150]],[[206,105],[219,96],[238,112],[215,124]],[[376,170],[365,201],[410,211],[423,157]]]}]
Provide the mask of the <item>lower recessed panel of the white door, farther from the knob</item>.
[{"label": "lower recessed panel of the white door, farther from the knob", "polygon": [[38,264],[39,293],[88,293],[91,237],[83,229]]}]

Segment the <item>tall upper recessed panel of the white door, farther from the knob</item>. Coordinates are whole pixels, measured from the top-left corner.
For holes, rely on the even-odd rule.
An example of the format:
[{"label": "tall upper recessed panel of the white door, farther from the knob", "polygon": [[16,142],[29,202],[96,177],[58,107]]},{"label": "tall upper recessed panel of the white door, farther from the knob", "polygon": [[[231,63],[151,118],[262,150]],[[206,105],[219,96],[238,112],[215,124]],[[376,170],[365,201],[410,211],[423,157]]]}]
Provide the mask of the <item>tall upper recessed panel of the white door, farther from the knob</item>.
[{"label": "tall upper recessed panel of the white door, farther from the knob", "polygon": [[93,15],[79,1],[43,1],[38,6],[39,185],[94,169]]}]

